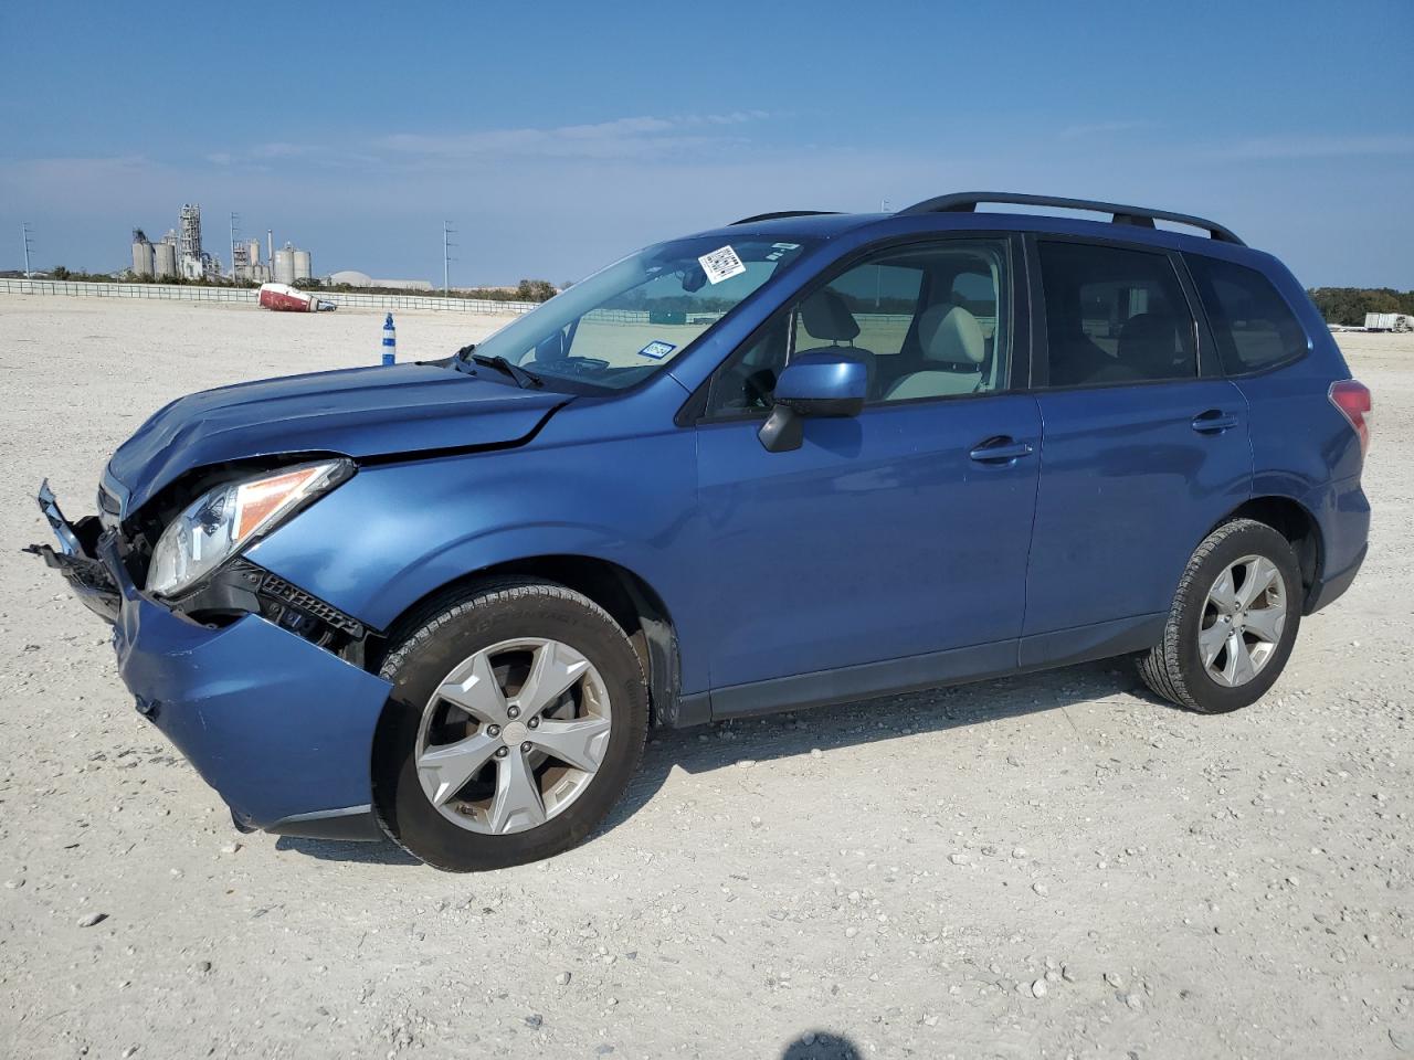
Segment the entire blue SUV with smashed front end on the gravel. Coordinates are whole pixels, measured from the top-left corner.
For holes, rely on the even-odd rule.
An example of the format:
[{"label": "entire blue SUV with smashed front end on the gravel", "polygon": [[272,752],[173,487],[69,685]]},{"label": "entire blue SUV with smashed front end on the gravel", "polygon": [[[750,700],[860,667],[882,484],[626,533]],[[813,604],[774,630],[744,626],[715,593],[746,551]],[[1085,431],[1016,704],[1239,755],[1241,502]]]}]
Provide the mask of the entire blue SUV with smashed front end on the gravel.
[{"label": "entire blue SUV with smashed front end on the gravel", "polygon": [[1121,654],[1246,707],[1365,558],[1369,413],[1222,225],[945,195],[660,243],[441,360],[184,397],[96,516],[41,488],[33,550],[238,827],[485,869],[587,837],[652,725]]}]

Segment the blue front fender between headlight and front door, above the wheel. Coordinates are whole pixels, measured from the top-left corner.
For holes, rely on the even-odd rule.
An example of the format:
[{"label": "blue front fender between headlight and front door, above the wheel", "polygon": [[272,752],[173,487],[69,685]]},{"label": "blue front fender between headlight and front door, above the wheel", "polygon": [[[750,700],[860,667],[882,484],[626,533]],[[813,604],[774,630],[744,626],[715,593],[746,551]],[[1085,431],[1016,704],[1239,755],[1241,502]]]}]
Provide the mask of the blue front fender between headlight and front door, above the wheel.
[{"label": "blue front fender between headlight and front door, above the wheel", "polygon": [[693,435],[674,430],[362,468],[250,558],[376,629],[486,567],[607,560],[648,582],[677,619],[691,688],[687,646],[707,643],[690,629],[701,611],[689,560],[696,509]]}]

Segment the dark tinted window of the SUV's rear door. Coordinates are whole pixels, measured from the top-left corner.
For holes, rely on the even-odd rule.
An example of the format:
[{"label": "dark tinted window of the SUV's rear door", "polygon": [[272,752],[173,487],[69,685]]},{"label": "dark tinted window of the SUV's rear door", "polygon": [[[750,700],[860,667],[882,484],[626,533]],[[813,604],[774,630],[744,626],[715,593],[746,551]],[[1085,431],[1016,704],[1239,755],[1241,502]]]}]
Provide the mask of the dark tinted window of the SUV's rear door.
[{"label": "dark tinted window of the SUV's rear door", "polygon": [[1193,379],[1193,317],[1167,254],[1041,242],[1051,386]]}]

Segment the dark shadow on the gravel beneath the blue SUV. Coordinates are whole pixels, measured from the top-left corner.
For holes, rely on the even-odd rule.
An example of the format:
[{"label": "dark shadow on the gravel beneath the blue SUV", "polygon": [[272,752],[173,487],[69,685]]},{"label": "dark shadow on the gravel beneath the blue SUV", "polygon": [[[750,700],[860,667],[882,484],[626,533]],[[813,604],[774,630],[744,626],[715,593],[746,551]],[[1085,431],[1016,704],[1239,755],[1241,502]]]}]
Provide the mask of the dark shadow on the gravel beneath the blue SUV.
[{"label": "dark shadow on the gravel beneath the blue SUV", "polygon": [[[1060,670],[929,688],[837,707],[772,714],[765,718],[725,721],[690,729],[655,729],[649,734],[643,762],[638,775],[629,782],[628,791],[588,841],[592,842],[597,835],[612,831],[648,804],[666,783],[673,766],[696,775],[728,769],[742,759],[764,765],[809,755],[816,749],[827,752],[913,734],[945,732],[1004,718],[1063,709],[1072,704],[1094,702],[1117,694],[1135,694],[1157,702],[1143,687],[1128,660],[1107,659]],[[297,851],[321,861],[366,865],[421,864],[392,842],[334,842],[281,835],[276,849]],[[812,1050],[786,1056],[819,1053],[817,1047]]]}]

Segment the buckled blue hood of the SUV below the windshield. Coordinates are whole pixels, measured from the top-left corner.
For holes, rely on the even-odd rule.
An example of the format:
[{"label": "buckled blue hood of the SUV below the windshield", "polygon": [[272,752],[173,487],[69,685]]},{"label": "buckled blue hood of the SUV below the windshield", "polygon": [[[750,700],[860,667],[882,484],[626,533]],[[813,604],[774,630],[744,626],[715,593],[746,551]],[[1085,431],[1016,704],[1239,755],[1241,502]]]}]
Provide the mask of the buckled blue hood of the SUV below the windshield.
[{"label": "buckled blue hood of the SUV below the windshield", "polygon": [[438,365],[239,383],[158,410],[113,454],[107,478],[126,492],[126,516],[192,468],[305,452],[361,458],[513,445],[570,400]]}]

